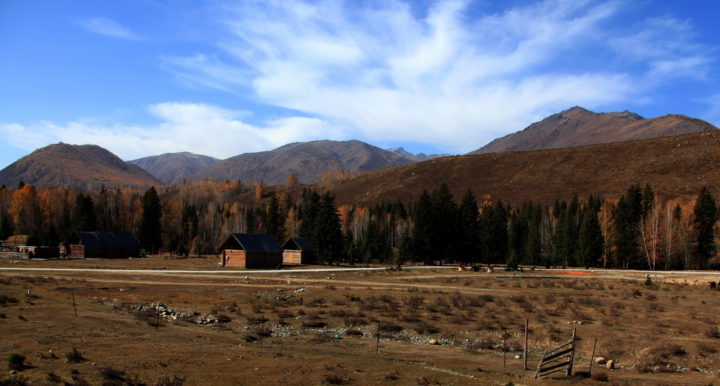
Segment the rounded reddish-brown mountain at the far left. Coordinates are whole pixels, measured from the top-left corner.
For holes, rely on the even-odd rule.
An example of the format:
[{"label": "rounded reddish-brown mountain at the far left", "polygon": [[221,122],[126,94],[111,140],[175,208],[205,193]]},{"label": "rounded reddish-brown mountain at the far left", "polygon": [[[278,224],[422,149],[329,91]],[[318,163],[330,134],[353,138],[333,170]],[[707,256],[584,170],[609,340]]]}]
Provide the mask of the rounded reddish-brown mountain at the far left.
[{"label": "rounded reddish-brown mountain at the far left", "polygon": [[14,187],[21,180],[36,188],[66,186],[84,190],[163,185],[139,166],[120,160],[102,147],[63,142],[37,149],[0,170],[0,184]]}]

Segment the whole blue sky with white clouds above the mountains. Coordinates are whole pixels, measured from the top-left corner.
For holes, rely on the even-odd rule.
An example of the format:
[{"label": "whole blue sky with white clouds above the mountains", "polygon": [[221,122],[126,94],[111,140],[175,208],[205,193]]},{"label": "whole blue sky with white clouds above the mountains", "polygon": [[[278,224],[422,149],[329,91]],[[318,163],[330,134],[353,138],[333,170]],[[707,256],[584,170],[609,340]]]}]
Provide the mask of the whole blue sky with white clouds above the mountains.
[{"label": "whole blue sky with white clouds above the mountains", "polygon": [[359,139],[463,154],[582,106],[720,124],[717,1],[0,3],[0,168]]}]

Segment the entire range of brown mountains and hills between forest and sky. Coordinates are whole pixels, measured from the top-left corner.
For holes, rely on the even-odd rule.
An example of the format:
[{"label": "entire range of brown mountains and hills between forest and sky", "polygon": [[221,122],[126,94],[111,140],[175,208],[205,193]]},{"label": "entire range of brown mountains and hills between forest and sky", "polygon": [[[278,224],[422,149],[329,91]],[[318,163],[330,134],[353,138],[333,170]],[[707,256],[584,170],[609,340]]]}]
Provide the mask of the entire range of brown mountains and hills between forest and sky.
[{"label": "entire range of brown mountains and hills between forest and sky", "polygon": [[[642,162],[651,162],[655,157],[665,154],[665,150],[656,150],[660,145],[655,145],[652,139],[643,138],[663,137],[670,140],[677,134],[715,129],[706,121],[681,115],[644,119],[629,111],[594,113],[576,106],[531,124],[521,132],[495,139],[470,153],[481,154],[475,157],[422,153],[413,155],[402,148],[382,150],[353,140],[298,142],[268,152],[246,153],[226,160],[181,152],[123,162],[102,147],[60,143],[36,150],[1,170],[0,184],[13,186],[23,180],[37,187],[65,185],[86,190],[96,190],[102,186],[145,188],[173,184],[183,179],[242,180],[244,183],[279,185],[284,183],[290,173],[294,173],[300,183],[312,184],[324,173],[343,170],[364,173],[338,189],[338,199],[343,201],[376,201],[397,195],[404,198],[410,190],[420,186],[434,188],[436,180],[456,180],[458,186],[475,186],[477,189],[473,190],[478,193],[485,194],[483,192],[487,191],[503,197],[518,196],[521,190],[527,189],[539,191],[540,196],[546,193],[549,196],[561,193],[567,196],[570,190],[585,191],[594,183],[615,186],[609,180],[593,179],[592,176],[576,180],[572,175],[566,175],[567,170],[579,172],[580,167],[583,173],[584,170],[595,170],[595,177],[598,178],[605,175],[607,170],[615,170],[618,178],[627,175],[629,177],[626,181],[642,182],[647,179],[647,175],[663,173],[662,170],[640,167]],[[694,140],[687,140],[688,144],[699,146]],[[650,142],[646,144],[644,141]],[[606,142],[608,147],[597,147]],[[582,146],[588,144],[595,144],[595,147]],[[562,151],[547,150],[554,148]],[[634,169],[624,170],[624,167],[617,166],[613,157],[605,159],[604,155],[592,153],[598,150],[611,155],[620,152],[614,157],[617,162],[626,162]],[[667,160],[674,161],[666,168],[687,168],[688,173],[692,172],[686,165],[692,157],[685,153],[685,147],[673,150],[680,151],[683,156],[665,154]],[[630,155],[635,158],[625,160]],[[588,163],[593,158],[598,158],[596,163]],[[410,175],[403,174],[408,170]],[[554,170],[552,173],[555,174],[549,170]],[[649,174],[634,175],[634,170],[644,170]],[[670,172],[665,170],[664,173]],[[708,174],[706,172],[703,175]],[[556,180],[559,175],[564,176],[562,180]],[[538,181],[539,185],[533,185],[531,181]],[[364,196],[354,198],[351,190],[348,191],[353,187],[357,192],[364,192]]]}]

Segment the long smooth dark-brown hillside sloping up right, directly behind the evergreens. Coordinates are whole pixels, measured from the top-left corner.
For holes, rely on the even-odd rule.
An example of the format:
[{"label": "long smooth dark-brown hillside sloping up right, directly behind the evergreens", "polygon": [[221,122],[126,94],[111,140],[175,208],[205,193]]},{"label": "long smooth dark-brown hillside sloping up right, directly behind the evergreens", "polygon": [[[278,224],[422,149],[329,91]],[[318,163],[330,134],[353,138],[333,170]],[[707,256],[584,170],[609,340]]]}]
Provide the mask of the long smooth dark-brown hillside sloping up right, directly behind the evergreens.
[{"label": "long smooth dark-brown hillside sloping up right, directly behind the evergreens", "polygon": [[364,173],[334,190],[338,204],[414,201],[423,188],[447,183],[459,200],[467,188],[477,198],[513,204],[552,204],[590,194],[617,198],[631,184],[652,184],[659,196],[690,197],[706,185],[720,193],[717,132],[595,144],[555,150],[437,158]]}]

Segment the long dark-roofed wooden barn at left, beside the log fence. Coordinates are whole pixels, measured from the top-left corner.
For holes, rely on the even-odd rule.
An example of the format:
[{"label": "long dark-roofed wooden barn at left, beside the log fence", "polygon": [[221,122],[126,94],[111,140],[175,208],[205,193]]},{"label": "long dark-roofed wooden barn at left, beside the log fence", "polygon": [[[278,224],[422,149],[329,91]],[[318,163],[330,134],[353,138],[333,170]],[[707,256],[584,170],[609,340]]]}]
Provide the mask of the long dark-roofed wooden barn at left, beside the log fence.
[{"label": "long dark-roofed wooden barn at left, beside the log fence", "polygon": [[65,244],[66,257],[140,257],[140,243],[130,232],[75,232]]}]

